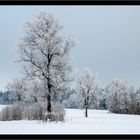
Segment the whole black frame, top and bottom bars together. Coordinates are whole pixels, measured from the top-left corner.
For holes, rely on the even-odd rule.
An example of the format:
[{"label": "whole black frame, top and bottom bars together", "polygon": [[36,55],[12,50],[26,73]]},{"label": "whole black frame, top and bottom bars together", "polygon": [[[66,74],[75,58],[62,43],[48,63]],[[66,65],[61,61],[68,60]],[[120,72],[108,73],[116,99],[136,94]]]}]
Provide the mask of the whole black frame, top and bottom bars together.
[{"label": "whole black frame, top and bottom bars together", "polygon": [[[80,6],[80,5],[86,5],[86,6],[96,6],[96,5],[110,5],[110,6],[124,6],[124,5],[132,5],[132,6],[140,6],[140,0],[0,0],[0,7],[1,6],[31,6],[31,5],[64,5],[64,6]],[[130,134],[130,135],[126,135],[126,134],[36,134],[36,135],[32,135],[32,134],[0,134],[0,139],[71,139],[71,140],[75,140],[75,139],[81,139],[81,140],[85,140],[85,139],[113,139],[113,140],[123,140],[123,139],[140,139],[140,134]]]}]

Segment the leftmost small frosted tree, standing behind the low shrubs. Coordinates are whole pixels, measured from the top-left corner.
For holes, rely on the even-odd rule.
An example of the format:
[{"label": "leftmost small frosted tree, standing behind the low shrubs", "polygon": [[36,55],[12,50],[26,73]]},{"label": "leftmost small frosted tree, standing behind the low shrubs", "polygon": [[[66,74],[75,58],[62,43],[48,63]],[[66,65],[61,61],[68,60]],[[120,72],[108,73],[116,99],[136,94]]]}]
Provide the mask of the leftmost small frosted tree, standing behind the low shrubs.
[{"label": "leftmost small frosted tree, standing behind the low shrubs", "polygon": [[22,102],[25,100],[27,91],[27,83],[25,78],[15,78],[11,83],[8,83],[6,89],[10,92],[8,98],[15,102]]}]

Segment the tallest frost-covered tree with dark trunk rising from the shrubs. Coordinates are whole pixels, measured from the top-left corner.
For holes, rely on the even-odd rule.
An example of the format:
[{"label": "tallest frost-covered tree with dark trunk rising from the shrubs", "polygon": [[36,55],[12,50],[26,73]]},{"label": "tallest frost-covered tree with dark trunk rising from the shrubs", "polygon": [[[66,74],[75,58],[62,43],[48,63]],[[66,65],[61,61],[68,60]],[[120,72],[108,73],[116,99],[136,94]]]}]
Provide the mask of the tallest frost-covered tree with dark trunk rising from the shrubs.
[{"label": "tallest frost-covered tree with dark trunk rising from the shrubs", "polygon": [[27,76],[44,82],[48,113],[52,112],[52,97],[57,98],[71,81],[69,54],[75,41],[72,37],[63,37],[61,30],[57,18],[41,12],[25,24],[25,36],[18,45]]}]

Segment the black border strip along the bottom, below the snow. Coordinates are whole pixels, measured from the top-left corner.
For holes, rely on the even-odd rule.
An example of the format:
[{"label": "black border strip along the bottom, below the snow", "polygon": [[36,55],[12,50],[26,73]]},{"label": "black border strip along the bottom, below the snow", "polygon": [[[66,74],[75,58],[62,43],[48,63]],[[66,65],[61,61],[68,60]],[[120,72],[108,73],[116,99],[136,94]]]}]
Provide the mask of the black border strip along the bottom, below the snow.
[{"label": "black border strip along the bottom, below the snow", "polygon": [[52,140],[87,140],[87,139],[94,139],[94,140],[134,140],[134,139],[140,139],[140,135],[127,135],[127,134],[10,134],[10,135],[0,135],[0,139],[14,139],[14,140],[29,140],[29,139],[52,139]]}]

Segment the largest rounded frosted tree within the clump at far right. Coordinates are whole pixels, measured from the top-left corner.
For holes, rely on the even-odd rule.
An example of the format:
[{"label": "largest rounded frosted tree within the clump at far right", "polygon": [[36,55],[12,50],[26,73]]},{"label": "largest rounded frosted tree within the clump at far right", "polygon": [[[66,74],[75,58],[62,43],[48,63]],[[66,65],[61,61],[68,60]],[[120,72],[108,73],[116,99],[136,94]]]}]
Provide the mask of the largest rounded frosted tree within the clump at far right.
[{"label": "largest rounded frosted tree within the clump at far right", "polygon": [[113,80],[107,86],[108,109],[114,113],[128,113],[129,109],[129,86],[126,81]]}]

